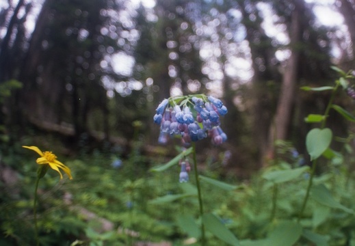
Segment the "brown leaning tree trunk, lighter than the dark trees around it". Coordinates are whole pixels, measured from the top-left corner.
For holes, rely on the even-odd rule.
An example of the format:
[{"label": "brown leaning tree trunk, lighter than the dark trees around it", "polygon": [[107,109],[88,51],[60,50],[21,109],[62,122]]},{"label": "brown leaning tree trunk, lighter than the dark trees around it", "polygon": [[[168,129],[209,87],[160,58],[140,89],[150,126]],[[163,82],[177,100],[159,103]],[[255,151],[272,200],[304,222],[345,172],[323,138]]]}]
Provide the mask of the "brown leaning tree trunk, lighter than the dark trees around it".
[{"label": "brown leaning tree trunk, lighter than the dark trees around it", "polygon": [[[295,85],[298,79],[298,60],[300,57],[298,44],[301,38],[300,17],[302,15],[303,7],[301,4],[302,3],[300,3],[300,1],[295,4],[295,10],[293,10],[291,16],[291,56],[287,61],[287,67],[282,79],[280,98],[278,100],[278,106],[276,109],[274,136],[271,136],[270,138],[273,141],[276,139],[286,139],[287,132],[289,130],[291,109],[293,106],[293,99],[295,94]],[[273,133],[273,131],[270,132]],[[270,144],[270,147],[271,146],[273,146],[273,144]]]}]

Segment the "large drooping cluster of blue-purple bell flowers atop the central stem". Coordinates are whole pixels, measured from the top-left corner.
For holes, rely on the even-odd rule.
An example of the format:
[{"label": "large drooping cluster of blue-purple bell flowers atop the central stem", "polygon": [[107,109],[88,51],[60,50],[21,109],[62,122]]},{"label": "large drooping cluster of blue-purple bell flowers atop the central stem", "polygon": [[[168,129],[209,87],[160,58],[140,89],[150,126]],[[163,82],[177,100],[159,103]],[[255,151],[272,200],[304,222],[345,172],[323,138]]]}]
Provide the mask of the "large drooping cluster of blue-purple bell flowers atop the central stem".
[{"label": "large drooping cluster of blue-purple bell flowers atop the central stem", "polygon": [[159,143],[172,136],[181,136],[184,145],[211,137],[215,145],[227,140],[220,128],[220,116],[228,112],[222,101],[202,94],[174,96],[164,99],[156,109],[153,120],[160,125]]}]

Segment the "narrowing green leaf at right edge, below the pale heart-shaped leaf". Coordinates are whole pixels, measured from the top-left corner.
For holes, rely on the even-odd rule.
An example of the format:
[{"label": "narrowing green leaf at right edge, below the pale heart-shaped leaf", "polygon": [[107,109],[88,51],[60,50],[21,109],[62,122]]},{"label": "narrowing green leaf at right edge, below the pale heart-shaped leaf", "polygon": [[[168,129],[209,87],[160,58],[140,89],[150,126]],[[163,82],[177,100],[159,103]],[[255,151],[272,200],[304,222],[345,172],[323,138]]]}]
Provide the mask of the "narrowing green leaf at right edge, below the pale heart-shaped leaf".
[{"label": "narrowing green leaf at right edge, below the pale heart-shaped leaf", "polygon": [[354,210],[341,205],[339,202],[334,200],[332,194],[328,191],[324,184],[319,184],[311,189],[311,197],[324,206],[330,208],[339,208],[347,213],[354,214]]}]

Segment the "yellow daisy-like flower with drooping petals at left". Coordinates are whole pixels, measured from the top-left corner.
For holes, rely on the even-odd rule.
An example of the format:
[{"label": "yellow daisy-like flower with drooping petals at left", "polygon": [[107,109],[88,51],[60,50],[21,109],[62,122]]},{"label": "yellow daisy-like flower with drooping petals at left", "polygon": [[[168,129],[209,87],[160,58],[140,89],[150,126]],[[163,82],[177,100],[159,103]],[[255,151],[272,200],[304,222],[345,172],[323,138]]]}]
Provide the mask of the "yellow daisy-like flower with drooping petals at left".
[{"label": "yellow daisy-like flower with drooping petals at left", "polygon": [[29,150],[34,150],[35,152],[37,152],[37,154],[40,155],[40,157],[36,160],[37,164],[39,165],[48,164],[49,167],[51,167],[51,169],[57,171],[60,174],[60,178],[63,178],[62,173],[60,172],[60,169],[62,169],[70,179],[73,179],[72,175],[70,174],[69,167],[67,167],[60,161],[57,161],[57,156],[53,154],[51,151],[42,152],[36,146],[22,146],[22,147],[28,148]]}]

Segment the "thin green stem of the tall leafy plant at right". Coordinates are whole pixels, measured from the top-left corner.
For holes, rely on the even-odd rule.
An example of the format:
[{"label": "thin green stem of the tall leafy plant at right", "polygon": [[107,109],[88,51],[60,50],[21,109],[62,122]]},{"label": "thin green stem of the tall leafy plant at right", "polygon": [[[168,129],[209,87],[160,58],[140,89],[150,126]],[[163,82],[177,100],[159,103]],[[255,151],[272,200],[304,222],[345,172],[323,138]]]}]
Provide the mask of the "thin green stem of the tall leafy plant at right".
[{"label": "thin green stem of the tall leafy plant at right", "polygon": [[[339,85],[340,85],[340,83],[339,83],[339,81],[337,81],[334,89],[332,90],[332,94],[330,96],[328,105],[326,107],[326,111],[324,112],[324,120],[321,122],[321,129],[323,129],[326,126],[326,119],[328,117],[330,109],[332,108],[334,96],[337,93]],[[317,159],[314,159],[312,161],[311,175],[310,175],[309,180],[308,180],[308,186],[307,186],[307,190],[306,190],[306,195],[304,196],[304,200],[302,202],[302,207],[301,207],[301,210],[300,210],[300,214],[298,215],[298,222],[300,222],[300,220],[302,219],[302,216],[303,216],[303,213],[304,213],[304,209],[306,208],[308,197],[309,197],[309,193],[310,193],[311,188],[312,188],[313,177],[315,176],[315,169],[316,168],[317,168]]]}]

